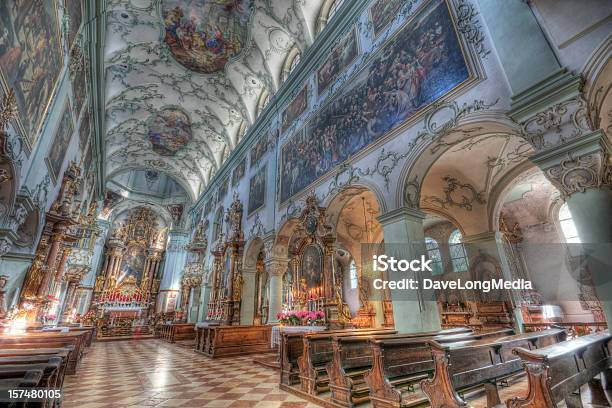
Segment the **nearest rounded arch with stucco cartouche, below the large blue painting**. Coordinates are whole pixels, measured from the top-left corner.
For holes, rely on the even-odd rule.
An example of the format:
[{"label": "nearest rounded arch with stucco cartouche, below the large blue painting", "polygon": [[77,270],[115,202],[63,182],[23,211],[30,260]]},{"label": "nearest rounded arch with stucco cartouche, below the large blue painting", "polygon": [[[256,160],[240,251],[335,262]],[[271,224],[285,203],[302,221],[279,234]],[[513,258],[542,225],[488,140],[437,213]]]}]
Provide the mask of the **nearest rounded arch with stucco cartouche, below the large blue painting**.
[{"label": "nearest rounded arch with stucco cartouche, below the large blue painting", "polygon": [[421,186],[431,167],[454,146],[479,137],[516,137],[520,127],[506,114],[499,111],[479,111],[459,118],[459,108],[448,104],[430,112],[426,119],[427,136],[411,150],[399,180],[395,204],[397,207],[418,207]]}]

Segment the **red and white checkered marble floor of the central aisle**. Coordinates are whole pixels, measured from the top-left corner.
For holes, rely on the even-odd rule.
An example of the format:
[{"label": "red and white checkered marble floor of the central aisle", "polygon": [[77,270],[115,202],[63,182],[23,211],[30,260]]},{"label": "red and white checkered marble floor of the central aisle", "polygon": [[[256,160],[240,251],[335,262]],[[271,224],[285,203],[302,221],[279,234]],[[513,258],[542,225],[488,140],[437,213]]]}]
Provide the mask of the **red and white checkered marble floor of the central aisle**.
[{"label": "red and white checkered marble floor of the central aisle", "polygon": [[161,340],[97,342],[66,376],[63,407],[316,407],[279,390],[278,372],[252,360],[213,360]]}]

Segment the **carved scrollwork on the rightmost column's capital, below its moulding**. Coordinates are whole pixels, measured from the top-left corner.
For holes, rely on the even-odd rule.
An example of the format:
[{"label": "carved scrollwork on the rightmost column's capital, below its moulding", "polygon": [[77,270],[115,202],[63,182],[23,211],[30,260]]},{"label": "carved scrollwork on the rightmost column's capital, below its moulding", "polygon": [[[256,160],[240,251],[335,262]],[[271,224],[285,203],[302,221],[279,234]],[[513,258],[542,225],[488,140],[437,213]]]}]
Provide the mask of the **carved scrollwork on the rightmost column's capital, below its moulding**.
[{"label": "carved scrollwork on the rightmost column's capital, below its moulding", "polygon": [[575,157],[568,153],[556,166],[546,170],[548,179],[561,191],[564,199],[591,188],[612,185],[610,155],[603,152]]}]

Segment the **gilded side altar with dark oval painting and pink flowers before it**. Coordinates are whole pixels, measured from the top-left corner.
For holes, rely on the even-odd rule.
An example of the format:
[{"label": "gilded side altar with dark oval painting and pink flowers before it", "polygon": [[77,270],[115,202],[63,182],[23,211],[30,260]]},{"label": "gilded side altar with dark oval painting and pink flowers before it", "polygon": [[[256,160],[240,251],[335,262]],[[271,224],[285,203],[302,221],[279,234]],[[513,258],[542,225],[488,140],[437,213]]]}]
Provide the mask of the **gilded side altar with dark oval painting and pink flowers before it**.
[{"label": "gilded side altar with dark oval painting and pink flowers before it", "polygon": [[285,309],[324,311],[330,328],[352,326],[342,293],[342,276],[336,270],[333,228],[326,223],[325,208],[317,198],[306,198],[297,231],[289,246],[289,271],[284,280]]}]

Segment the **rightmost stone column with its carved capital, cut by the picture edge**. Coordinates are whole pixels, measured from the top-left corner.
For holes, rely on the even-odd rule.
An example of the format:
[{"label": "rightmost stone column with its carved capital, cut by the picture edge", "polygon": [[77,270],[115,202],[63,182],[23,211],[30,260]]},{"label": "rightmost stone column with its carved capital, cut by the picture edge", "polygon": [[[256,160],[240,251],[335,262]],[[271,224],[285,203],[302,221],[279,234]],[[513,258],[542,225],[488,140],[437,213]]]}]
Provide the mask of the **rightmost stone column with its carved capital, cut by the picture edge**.
[{"label": "rightmost stone column with its carved capital, cut by the picture edge", "polygon": [[608,325],[612,324],[612,142],[599,129],[530,159],[572,214]]}]

